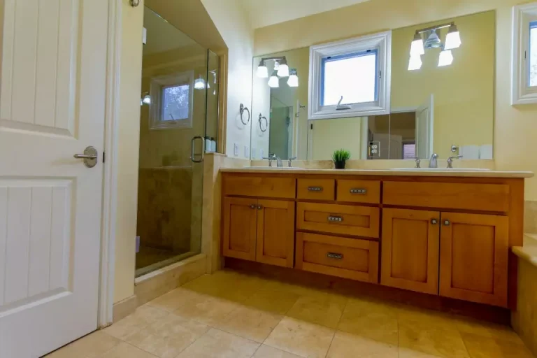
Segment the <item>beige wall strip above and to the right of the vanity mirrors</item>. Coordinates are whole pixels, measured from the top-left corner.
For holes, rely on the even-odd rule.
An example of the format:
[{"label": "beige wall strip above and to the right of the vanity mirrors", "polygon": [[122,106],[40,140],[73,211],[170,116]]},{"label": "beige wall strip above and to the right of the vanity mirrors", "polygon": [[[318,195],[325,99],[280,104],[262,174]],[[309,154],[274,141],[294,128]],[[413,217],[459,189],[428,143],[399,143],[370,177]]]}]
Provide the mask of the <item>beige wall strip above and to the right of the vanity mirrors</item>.
[{"label": "beige wall strip above and to the right of the vanity mirrors", "polygon": [[[512,7],[520,0],[375,0],[264,27],[255,31],[255,55],[302,48],[360,34],[398,29],[496,10],[494,159],[496,169],[536,171],[537,105],[510,106]],[[537,178],[527,180],[526,199],[537,200]]]}]

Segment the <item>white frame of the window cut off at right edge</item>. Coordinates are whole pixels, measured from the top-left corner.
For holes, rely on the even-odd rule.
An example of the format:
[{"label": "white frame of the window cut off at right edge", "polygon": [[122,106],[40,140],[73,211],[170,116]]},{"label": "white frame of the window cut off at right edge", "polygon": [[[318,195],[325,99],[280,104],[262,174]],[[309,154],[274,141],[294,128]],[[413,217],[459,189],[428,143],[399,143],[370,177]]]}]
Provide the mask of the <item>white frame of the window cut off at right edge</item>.
[{"label": "white frame of the window cut off at right edge", "polygon": [[530,23],[537,21],[537,2],[513,7],[511,104],[537,103],[537,86],[529,86]]}]

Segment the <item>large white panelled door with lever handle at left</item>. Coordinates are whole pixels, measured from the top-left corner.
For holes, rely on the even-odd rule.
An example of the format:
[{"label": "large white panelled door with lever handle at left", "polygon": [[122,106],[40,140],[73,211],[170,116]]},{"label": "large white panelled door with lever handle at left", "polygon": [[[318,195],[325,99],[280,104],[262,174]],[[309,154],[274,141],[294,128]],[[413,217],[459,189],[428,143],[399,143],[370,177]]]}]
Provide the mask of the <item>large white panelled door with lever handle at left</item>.
[{"label": "large white panelled door with lever handle at left", "polygon": [[108,0],[0,0],[2,358],[97,328],[107,24]]}]

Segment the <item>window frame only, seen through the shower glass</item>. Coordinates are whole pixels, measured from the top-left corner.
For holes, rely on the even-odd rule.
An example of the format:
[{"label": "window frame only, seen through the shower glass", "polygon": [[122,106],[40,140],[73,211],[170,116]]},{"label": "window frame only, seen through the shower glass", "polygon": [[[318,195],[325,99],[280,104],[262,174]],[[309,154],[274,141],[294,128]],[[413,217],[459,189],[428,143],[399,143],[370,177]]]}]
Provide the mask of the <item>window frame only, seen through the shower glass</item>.
[{"label": "window frame only, seen through the shower glass", "polygon": [[[188,118],[184,120],[162,120],[162,103],[166,87],[189,85]],[[172,75],[151,78],[150,87],[151,110],[149,129],[185,129],[192,128],[192,113],[194,108],[194,71],[173,73]]]}]

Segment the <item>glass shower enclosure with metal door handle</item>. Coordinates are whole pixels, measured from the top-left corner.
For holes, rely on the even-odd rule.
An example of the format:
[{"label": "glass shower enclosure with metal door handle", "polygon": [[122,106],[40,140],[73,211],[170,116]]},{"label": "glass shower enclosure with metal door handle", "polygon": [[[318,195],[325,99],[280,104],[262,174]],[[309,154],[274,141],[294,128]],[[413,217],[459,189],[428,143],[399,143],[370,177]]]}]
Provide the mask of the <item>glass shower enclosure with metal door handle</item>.
[{"label": "glass shower enclosure with metal door handle", "polygon": [[137,277],[201,251],[203,155],[215,150],[220,66],[147,6],[144,28]]}]

